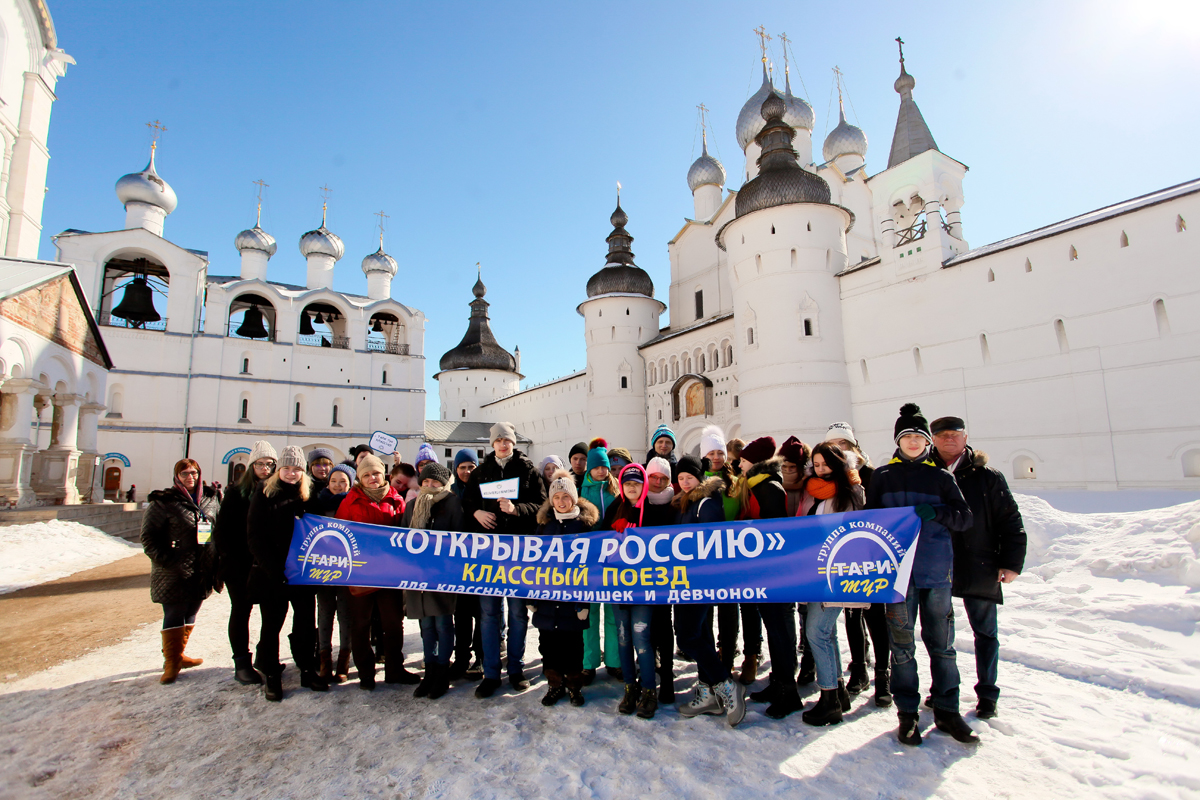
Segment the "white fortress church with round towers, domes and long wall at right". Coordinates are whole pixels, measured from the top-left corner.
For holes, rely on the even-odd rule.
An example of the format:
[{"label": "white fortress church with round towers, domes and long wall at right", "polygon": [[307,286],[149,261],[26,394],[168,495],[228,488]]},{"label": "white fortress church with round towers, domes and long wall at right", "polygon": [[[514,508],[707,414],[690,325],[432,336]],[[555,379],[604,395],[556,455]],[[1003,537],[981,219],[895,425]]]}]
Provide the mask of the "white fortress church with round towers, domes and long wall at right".
[{"label": "white fortress church with round towers, domes and long wall at right", "polygon": [[[666,302],[618,203],[577,307],[586,368],[520,391],[494,351],[443,362],[443,420],[512,421],[536,457],[595,435],[640,455],[662,423],[696,452],[709,423],[815,443],[850,421],[878,463],[916,401],[965,419],[1026,491],[1200,488],[1200,180],[972,248],[967,168],[938,149],[916,83],[901,54],[872,174],[845,113],[816,157],[812,108],[764,59],[734,131],[742,188],[707,140],[688,172]],[[462,391],[485,377],[512,391]]]}]

